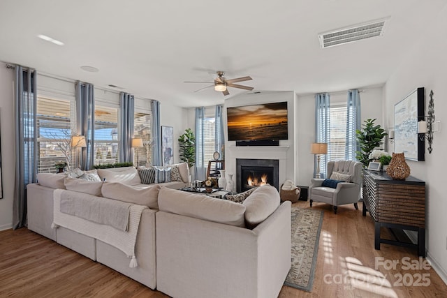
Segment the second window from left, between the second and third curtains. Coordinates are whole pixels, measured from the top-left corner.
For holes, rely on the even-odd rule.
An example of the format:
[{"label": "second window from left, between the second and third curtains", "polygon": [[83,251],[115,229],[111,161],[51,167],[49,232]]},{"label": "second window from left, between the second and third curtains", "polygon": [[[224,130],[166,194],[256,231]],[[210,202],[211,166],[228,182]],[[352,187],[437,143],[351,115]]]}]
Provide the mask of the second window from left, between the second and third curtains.
[{"label": "second window from left, between the second and third curtains", "polygon": [[118,162],[118,109],[95,105],[94,164]]}]

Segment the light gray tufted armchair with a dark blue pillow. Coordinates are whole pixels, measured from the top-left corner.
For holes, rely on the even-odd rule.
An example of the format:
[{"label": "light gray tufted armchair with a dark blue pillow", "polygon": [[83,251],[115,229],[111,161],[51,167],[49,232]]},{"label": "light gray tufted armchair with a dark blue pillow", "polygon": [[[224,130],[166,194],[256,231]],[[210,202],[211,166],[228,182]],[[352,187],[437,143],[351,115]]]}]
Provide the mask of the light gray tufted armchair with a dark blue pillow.
[{"label": "light gray tufted armchair with a dark blue pillow", "polygon": [[310,207],[313,202],[324,202],[331,204],[337,214],[337,206],[353,203],[358,210],[361,174],[362,163],[358,161],[328,162],[327,177],[331,180],[312,179],[312,185],[309,187]]}]

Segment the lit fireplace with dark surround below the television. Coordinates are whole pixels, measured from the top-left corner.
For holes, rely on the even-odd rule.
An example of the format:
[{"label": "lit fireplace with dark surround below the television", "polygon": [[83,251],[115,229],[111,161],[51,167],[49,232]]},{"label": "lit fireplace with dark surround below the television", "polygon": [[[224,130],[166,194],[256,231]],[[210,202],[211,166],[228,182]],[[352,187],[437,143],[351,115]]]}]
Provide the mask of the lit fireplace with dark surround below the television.
[{"label": "lit fireplace with dark surround below the television", "polygon": [[236,158],[236,191],[270,184],[279,189],[279,160]]}]

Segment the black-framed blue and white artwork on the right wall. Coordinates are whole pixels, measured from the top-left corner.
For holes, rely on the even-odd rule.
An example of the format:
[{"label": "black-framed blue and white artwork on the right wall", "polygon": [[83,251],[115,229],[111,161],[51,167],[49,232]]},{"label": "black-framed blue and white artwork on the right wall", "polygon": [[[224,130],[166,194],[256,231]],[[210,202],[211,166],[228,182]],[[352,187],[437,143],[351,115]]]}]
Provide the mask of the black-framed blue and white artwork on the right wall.
[{"label": "black-framed blue and white artwork on the right wall", "polygon": [[395,153],[410,161],[425,161],[425,137],[418,135],[418,121],[424,119],[425,89],[420,87],[394,106]]}]

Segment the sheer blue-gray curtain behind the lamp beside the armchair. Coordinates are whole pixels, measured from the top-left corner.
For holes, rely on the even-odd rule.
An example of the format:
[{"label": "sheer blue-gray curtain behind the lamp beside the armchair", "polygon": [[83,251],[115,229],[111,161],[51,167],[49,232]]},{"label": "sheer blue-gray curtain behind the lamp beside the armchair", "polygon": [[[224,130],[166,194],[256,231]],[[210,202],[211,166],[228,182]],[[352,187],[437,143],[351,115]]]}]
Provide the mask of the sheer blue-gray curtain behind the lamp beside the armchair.
[{"label": "sheer blue-gray curtain behind the lamp beside the armchair", "polygon": [[[330,156],[330,95],[315,94],[315,142],[327,143],[328,154],[320,157],[321,177],[326,177],[328,156]],[[316,174],[316,156],[314,156],[314,177]]]}]

